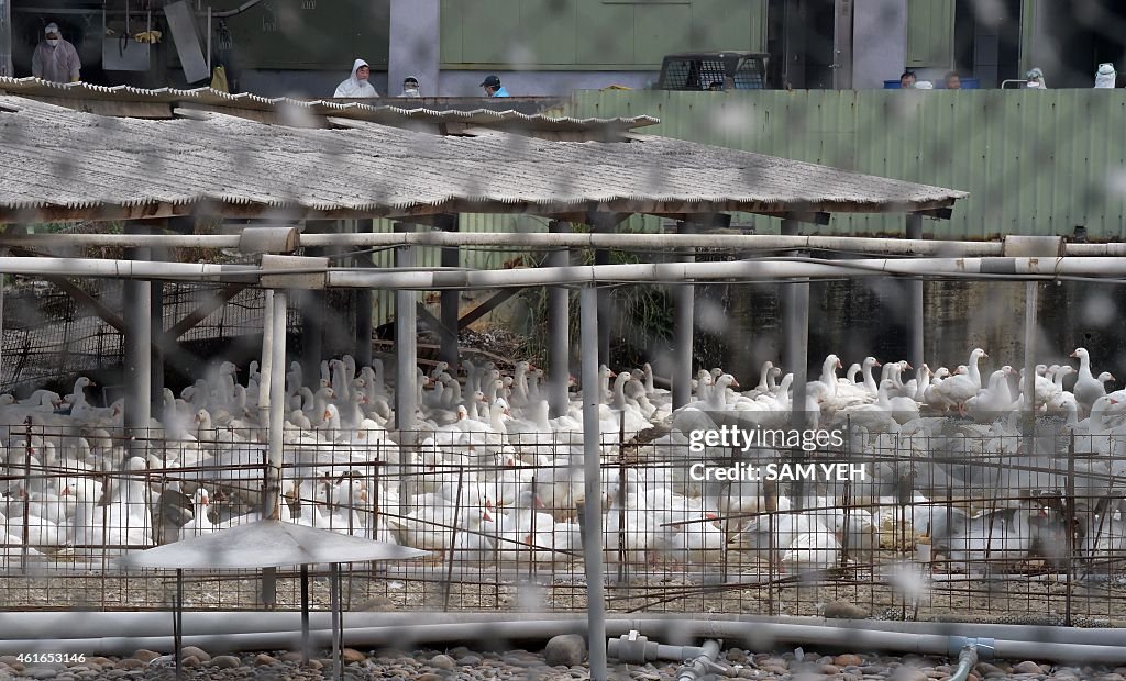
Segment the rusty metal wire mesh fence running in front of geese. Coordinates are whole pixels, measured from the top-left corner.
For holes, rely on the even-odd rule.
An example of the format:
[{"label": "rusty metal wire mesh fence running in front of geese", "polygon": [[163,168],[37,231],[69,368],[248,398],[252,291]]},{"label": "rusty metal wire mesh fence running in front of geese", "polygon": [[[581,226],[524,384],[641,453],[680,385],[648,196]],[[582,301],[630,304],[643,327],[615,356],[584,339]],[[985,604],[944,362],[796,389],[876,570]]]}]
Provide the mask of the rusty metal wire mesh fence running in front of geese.
[{"label": "rusty metal wire mesh fence running in front of geese", "polygon": [[[815,454],[604,433],[608,607],[812,616],[847,603],[891,619],[1120,624],[1126,452],[1116,436],[1063,425],[1042,420],[1029,439],[958,419],[894,436],[846,423],[840,445]],[[115,559],[261,517],[260,431],[150,434],[5,430],[0,608],[168,608],[170,575]],[[346,607],[583,610],[581,445],[561,432],[503,445],[455,427],[418,434],[401,447],[370,425],[286,433],[280,519],[430,552],[351,565]],[[294,571],[187,577],[193,609],[301,602]],[[314,580],[314,607],[328,599]]]}]

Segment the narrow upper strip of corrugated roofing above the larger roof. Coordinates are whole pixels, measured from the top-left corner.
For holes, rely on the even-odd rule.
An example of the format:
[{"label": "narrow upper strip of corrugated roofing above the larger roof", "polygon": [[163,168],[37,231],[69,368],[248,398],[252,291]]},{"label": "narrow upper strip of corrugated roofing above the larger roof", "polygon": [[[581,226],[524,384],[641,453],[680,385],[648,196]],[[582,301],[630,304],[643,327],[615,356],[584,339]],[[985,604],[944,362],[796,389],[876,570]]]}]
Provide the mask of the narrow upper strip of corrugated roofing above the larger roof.
[{"label": "narrow upper strip of corrugated roofing above the larger roof", "polygon": [[[176,90],[161,88],[144,90],[129,86],[95,86],[90,83],[55,83],[37,78],[0,78],[0,91],[34,99],[65,99],[73,102],[111,102],[115,105],[152,105],[220,107],[224,110],[247,110],[277,114],[282,119],[301,116],[336,116],[352,120],[370,120],[396,125],[405,122],[444,124],[458,123],[479,126],[515,126],[542,132],[587,132],[600,128],[633,129],[660,123],[652,116],[626,118],[572,118],[570,116],[545,116],[524,114],[516,110],[427,109],[414,106],[370,105],[359,101],[332,101],[325,99],[300,100],[286,97],[266,98],[242,92],[229,95],[211,88]],[[68,102],[69,104],[69,102]],[[408,102],[410,104],[410,102]],[[122,109],[123,113],[127,109]],[[170,109],[169,109],[170,110]],[[127,115],[127,114],[126,114]]]}]

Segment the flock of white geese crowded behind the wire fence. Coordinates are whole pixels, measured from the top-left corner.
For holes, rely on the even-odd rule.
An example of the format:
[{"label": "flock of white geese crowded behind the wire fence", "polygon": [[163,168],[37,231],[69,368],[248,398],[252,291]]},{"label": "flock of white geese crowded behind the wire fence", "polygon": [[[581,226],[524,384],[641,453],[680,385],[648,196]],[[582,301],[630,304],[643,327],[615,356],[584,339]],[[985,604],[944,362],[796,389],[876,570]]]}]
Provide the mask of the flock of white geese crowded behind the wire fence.
[{"label": "flock of white geese crowded behind the wire fence", "polygon": [[[597,428],[607,561],[638,570],[707,570],[725,561],[729,570],[796,572],[865,564],[890,541],[906,550],[894,544],[906,536],[936,545],[955,570],[1052,563],[1067,539],[1062,504],[1051,499],[1063,478],[1051,471],[1062,469],[1058,442],[1072,436],[1091,452],[1075,468],[1076,550],[1092,565],[1120,558],[1126,391],[1107,392],[1114,377],[1096,375],[1087,350],[1071,358],[1078,369],[1040,366],[1029,380],[1010,366],[983,375],[989,357],[981,349],[954,369],[868,357],[844,376],[830,355],[806,385],[804,411],[812,428],[848,427],[846,454],[866,462],[867,475],[847,491],[840,483],[787,489],[688,475],[690,463],[731,456],[730,448],[690,451],[694,430],[792,424],[793,375],[771,362],[750,389],[721,369],[701,370],[692,401],[677,410],[649,365],[617,374],[602,367]],[[293,362],[282,520],[463,564],[580,561],[581,393],[571,394],[566,414],[549,418],[542,369],[526,361],[510,375],[491,364],[462,368],[464,378],[444,362],[419,369],[417,445],[406,447],[397,441],[379,360],[357,367],[345,356],[322,362],[319,376]],[[0,559],[120,553],[260,518],[260,379],[258,362],[245,374],[223,362],[179,396],[166,389],[146,456],[127,454],[136,449],[120,437],[123,404],[91,405],[86,377],[68,395],[0,396]],[[1029,412],[1056,416],[1039,419],[1036,442],[1021,437],[1020,416]],[[784,460],[788,452],[758,448],[745,456]],[[942,463],[950,456],[958,463]]]}]

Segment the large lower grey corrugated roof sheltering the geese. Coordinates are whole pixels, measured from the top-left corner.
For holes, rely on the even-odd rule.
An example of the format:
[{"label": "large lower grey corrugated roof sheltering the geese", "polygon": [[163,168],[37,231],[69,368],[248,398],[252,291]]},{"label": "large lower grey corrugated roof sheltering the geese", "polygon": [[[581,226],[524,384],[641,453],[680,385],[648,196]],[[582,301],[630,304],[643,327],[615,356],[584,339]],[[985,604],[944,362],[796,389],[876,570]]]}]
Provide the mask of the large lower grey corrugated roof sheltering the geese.
[{"label": "large lower grey corrugated roof sheltering the geese", "polygon": [[663,137],[555,142],[98,116],[0,96],[0,221],[921,210],[965,192]]}]

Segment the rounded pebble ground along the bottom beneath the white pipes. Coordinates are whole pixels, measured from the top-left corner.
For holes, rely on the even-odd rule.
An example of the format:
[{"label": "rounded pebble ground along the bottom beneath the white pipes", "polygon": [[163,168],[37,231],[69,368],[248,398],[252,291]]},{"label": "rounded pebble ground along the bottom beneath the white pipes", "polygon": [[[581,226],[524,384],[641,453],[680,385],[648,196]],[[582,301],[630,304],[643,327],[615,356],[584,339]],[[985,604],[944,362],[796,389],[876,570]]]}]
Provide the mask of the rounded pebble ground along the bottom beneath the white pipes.
[{"label": "rounded pebble ground along the bottom beneath the white pipes", "polygon": [[[345,679],[399,679],[401,681],[440,680],[489,680],[528,679],[537,681],[562,681],[589,679],[584,664],[548,666],[543,653],[509,651],[506,653],[474,652],[464,647],[447,651],[414,651],[411,653],[392,649],[355,651],[346,649],[349,661]],[[331,679],[331,660],[312,660],[302,663],[295,653],[244,653],[241,655],[216,655],[212,657],[198,648],[185,648],[187,679],[278,679],[316,680]],[[739,648],[729,648],[720,656],[724,671],[720,676],[733,679],[840,679],[860,681],[865,679],[887,681],[927,681],[947,679],[956,667],[956,661],[947,658],[905,656],[879,656],[859,654],[820,655],[798,648],[785,654],[756,654]],[[677,663],[646,665],[615,665],[611,678],[620,680],[673,679]],[[77,681],[84,679],[173,679],[171,658],[151,651],[137,651],[132,657],[90,657],[84,662],[64,664],[24,665],[15,657],[0,657],[0,681],[25,679],[54,679]],[[972,681],[985,679],[1058,679],[1070,681],[1123,681],[1126,666],[1056,666],[1033,661],[993,661],[980,663],[971,673]]]}]

